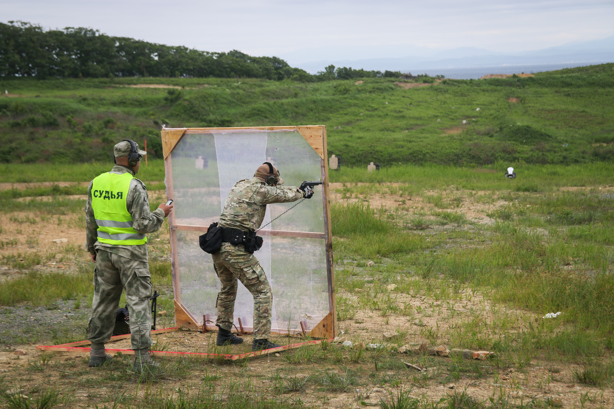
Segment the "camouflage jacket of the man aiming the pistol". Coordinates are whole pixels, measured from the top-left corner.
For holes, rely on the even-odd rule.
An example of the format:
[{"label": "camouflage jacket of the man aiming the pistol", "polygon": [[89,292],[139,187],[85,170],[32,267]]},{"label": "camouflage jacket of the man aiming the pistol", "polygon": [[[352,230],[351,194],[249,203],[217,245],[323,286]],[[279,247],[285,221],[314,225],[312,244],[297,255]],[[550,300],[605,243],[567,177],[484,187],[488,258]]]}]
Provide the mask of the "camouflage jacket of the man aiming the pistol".
[{"label": "camouflage jacket of the man aiming the pistol", "polygon": [[265,218],[267,204],[295,202],[302,197],[296,187],[270,186],[258,178],[239,180],[228,193],[220,226],[254,231]]}]

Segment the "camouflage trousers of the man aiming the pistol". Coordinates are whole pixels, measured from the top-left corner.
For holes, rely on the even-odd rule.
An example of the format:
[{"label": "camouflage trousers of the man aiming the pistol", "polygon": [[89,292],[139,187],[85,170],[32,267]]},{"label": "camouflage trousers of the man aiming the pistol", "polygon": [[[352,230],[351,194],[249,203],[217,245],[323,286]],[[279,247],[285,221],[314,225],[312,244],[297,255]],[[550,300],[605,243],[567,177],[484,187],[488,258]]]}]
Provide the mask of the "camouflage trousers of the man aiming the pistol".
[{"label": "camouflage trousers of the man aiming the pistol", "polygon": [[254,339],[268,339],[271,335],[273,294],[258,259],[254,254],[247,253],[243,245],[230,243],[222,243],[220,251],[211,255],[222,284],[217,294],[216,324],[228,331],[232,329],[238,278],[254,296]]}]

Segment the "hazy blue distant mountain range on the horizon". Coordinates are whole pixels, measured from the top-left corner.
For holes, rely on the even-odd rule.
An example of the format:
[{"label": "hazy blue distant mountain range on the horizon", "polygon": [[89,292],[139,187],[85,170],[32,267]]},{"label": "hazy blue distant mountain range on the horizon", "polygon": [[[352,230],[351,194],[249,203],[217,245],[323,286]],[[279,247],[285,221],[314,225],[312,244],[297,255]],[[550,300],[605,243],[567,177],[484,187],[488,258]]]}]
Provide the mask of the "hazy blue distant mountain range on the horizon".
[{"label": "hazy blue distant mountain range on the horizon", "polygon": [[[386,47],[389,48],[389,47]],[[402,46],[395,46],[397,54],[403,50]],[[310,55],[317,55],[312,50]],[[330,54],[330,50],[327,50]],[[365,59],[319,59],[297,63],[292,61],[294,56],[282,56],[289,59],[292,66],[315,73],[323,71],[324,67],[333,64],[336,67],[352,67],[365,70],[389,70],[401,72],[419,72],[425,69],[450,69],[465,67],[497,67],[531,64],[560,64],[560,63],[604,63],[614,61],[614,36],[605,39],[570,42],[557,47],[548,47],[543,50],[524,51],[515,53],[492,52],[483,48],[463,47],[453,50],[428,53],[424,48],[416,48],[414,55],[392,58],[365,58]],[[390,50],[389,50],[390,54]],[[347,54],[346,54],[347,55]],[[354,51],[356,55],[356,51]]]}]

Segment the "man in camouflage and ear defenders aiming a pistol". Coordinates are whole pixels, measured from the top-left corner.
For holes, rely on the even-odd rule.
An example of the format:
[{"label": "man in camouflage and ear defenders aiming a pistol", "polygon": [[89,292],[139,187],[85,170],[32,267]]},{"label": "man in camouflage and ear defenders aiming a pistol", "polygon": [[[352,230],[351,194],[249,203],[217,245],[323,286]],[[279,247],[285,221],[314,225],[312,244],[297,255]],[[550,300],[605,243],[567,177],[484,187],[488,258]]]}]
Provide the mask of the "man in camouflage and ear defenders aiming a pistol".
[{"label": "man in camouflage and ear defenders aiming a pistol", "polygon": [[[267,183],[268,180],[268,183]],[[305,193],[296,187],[283,185],[279,171],[265,162],[256,170],[254,178],[235,183],[224,204],[219,226],[254,232],[265,217],[266,205],[270,203],[294,202]],[[311,197],[311,196],[309,196]],[[213,266],[222,288],[217,294],[217,345],[238,344],[243,338],[231,334],[237,278],[254,296],[254,344],[252,350],[276,348],[269,341],[271,335],[271,308],[273,294],[266,275],[254,254],[248,253],[244,245],[233,245],[222,240],[222,248],[212,254]]]}]

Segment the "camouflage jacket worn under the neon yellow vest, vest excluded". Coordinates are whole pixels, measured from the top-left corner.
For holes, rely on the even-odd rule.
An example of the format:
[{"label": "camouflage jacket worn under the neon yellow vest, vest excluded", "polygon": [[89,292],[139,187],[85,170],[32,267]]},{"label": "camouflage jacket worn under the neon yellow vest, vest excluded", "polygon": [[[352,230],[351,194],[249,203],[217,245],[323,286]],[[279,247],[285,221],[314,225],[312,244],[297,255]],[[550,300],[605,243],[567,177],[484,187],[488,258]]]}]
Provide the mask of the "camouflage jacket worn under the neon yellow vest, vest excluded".
[{"label": "camouflage jacket worn under the neon yellow vest, vest excluded", "polygon": [[[130,172],[134,175],[132,169],[123,165],[115,165],[111,172],[115,174],[125,174]],[[111,253],[119,254],[125,258],[136,261],[147,261],[147,244],[141,245],[117,245],[107,244],[98,241],[98,224],[94,218],[94,209],[91,207],[91,185],[87,189],[87,204],[85,205],[85,250],[91,254],[95,254],[96,250],[101,249]],[[134,178],[130,181],[130,189],[126,194],[126,208],[132,215],[134,230],[139,233],[153,233],[158,231],[164,223],[164,211],[157,208],[153,212],[149,211],[149,196],[144,183]]]}]

